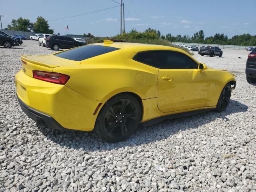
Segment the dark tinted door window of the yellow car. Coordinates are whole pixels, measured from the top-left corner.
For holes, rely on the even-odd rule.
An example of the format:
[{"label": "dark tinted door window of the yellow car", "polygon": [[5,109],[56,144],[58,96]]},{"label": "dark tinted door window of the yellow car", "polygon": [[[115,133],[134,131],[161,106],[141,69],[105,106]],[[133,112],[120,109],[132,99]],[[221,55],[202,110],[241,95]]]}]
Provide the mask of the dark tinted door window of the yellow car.
[{"label": "dark tinted door window of the yellow car", "polygon": [[166,69],[197,69],[198,64],[180,52],[156,51],[156,60],[159,68]]}]

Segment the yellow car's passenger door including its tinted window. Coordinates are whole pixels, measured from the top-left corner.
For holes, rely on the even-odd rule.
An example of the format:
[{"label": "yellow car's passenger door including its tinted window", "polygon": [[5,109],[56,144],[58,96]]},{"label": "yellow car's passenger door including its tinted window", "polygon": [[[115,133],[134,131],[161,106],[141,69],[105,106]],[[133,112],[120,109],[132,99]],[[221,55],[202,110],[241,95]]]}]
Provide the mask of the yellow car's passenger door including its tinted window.
[{"label": "yellow car's passenger door including its tinted window", "polygon": [[189,56],[174,51],[156,51],[159,66],[157,105],[162,112],[206,106],[210,78],[207,70]]}]

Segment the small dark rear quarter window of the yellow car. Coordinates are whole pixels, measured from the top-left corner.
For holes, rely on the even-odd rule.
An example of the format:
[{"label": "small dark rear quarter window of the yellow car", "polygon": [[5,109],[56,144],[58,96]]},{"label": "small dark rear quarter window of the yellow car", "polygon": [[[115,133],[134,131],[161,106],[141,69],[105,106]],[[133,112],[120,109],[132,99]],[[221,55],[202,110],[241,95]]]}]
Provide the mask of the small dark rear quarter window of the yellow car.
[{"label": "small dark rear quarter window of the yellow car", "polygon": [[140,52],[134,56],[133,60],[144,63],[144,64],[148,64],[154,67],[158,67],[153,51]]}]

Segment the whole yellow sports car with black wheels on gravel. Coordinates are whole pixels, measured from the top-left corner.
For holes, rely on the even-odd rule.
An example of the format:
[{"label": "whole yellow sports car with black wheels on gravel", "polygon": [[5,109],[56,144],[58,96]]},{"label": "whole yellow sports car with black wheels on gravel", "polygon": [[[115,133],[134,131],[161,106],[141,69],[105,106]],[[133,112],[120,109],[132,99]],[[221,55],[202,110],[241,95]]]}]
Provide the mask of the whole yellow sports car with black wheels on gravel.
[{"label": "whole yellow sports car with black wheels on gravel", "polygon": [[113,42],[50,55],[22,55],[16,76],[22,110],[57,129],[95,130],[108,142],[138,125],[226,109],[232,73],[169,46]]}]

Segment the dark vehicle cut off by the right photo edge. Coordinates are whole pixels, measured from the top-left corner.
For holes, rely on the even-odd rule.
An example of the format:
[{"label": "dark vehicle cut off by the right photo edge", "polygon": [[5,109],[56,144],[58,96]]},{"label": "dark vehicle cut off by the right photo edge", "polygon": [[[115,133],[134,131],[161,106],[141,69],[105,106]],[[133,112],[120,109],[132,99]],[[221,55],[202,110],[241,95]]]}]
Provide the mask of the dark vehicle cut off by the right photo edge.
[{"label": "dark vehicle cut off by the right photo edge", "polygon": [[248,54],[245,74],[248,83],[256,83],[256,48]]}]

